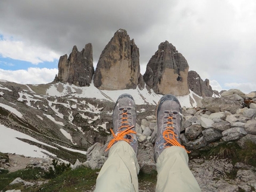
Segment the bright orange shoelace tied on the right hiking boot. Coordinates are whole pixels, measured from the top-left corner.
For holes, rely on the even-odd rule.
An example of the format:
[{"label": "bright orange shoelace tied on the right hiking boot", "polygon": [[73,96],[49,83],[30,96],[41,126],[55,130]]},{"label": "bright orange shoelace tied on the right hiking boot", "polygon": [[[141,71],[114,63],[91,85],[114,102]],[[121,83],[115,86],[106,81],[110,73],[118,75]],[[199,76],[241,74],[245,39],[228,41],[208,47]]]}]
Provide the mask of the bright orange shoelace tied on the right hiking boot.
[{"label": "bright orange shoelace tied on the right hiking boot", "polygon": [[[170,119],[171,121],[168,121]],[[164,140],[166,140],[166,143],[164,145],[167,145],[168,143],[171,144],[172,146],[179,146],[185,149],[184,146],[182,146],[179,141],[176,140],[177,135],[174,133],[174,127],[173,127],[173,117],[168,117],[167,118],[167,127],[166,130],[163,132],[163,137]],[[165,146],[164,148],[167,148],[170,146]],[[186,149],[185,149],[186,150]],[[187,153],[191,153],[188,150],[186,150]]]}]

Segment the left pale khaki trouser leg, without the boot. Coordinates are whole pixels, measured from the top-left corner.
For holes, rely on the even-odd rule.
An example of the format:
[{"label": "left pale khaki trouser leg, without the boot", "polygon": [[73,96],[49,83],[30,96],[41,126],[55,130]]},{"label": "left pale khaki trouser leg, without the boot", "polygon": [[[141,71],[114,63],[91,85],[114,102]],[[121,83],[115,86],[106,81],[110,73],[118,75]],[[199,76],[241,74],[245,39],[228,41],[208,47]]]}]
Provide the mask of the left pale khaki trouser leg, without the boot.
[{"label": "left pale khaki trouser leg, without the boot", "polygon": [[99,172],[95,191],[139,191],[139,164],[126,141],[115,143]]}]

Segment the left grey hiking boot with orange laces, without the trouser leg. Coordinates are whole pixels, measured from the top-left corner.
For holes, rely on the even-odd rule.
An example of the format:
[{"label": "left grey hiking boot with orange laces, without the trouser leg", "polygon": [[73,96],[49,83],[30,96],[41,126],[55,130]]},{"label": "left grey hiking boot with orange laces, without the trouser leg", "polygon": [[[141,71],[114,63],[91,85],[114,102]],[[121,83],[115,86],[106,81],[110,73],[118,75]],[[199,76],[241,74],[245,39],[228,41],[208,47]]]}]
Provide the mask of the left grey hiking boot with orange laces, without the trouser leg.
[{"label": "left grey hiking boot with orange laces, without the trouser leg", "polygon": [[130,144],[130,146],[138,154],[138,141],[135,132],[136,125],[136,110],[135,101],[129,94],[120,95],[115,103],[113,111],[113,128],[110,129],[113,134],[113,139],[107,146],[110,149],[111,146],[117,141],[123,140]]}]

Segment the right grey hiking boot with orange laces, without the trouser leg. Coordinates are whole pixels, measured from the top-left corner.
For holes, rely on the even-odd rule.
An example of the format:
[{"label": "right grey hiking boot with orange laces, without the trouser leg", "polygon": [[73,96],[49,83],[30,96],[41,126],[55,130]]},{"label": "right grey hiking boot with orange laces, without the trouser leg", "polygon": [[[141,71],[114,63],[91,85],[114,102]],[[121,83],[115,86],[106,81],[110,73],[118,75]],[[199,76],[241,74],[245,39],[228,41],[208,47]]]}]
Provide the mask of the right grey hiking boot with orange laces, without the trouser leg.
[{"label": "right grey hiking boot with orange laces, without the trouser leg", "polygon": [[182,108],[177,97],[164,95],[157,105],[157,140],[155,141],[154,157],[158,157],[164,149],[180,146],[180,127],[182,126]]}]

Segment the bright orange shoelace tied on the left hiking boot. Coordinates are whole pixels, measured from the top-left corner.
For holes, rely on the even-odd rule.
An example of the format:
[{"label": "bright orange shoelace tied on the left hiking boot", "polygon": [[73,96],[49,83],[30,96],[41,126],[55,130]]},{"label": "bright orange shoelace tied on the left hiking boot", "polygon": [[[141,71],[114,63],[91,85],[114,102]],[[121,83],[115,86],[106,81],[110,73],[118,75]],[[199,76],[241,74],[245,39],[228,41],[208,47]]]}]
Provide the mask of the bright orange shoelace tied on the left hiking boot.
[{"label": "bright orange shoelace tied on the left hiking boot", "polygon": [[[123,110],[123,114],[122,114],[122,124],[127,124],[127,125],[121,125],[121,127],[118,128],[117,130],[117,135],[115,135],[114,131],[112,129],[110,129],[112,135],[113,135],[113,139],[110,141],[110,143],[108,143],[107,149],[105,151],[107,151],[108,149],[110,149],[111,146],[113,146],[113,144],[115,143],[115,141],[126,141],[127,143],[130,143],[132,140],[131,139],[127,139],[124,138],[124,136],[129,135],[132,139],[133,136],[131,135],[131,133],[136,134],[136,131],[133,131],[132,128],[135,127],[134,125],[132,127],[129,126],[129,122],[128,122],[128,114],[126,110]],[[126,116],[126,117],[124,117]],[[122,128],[126,128],[126,130],[120,131]]]}]

